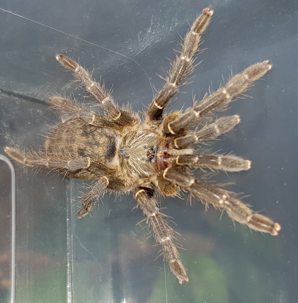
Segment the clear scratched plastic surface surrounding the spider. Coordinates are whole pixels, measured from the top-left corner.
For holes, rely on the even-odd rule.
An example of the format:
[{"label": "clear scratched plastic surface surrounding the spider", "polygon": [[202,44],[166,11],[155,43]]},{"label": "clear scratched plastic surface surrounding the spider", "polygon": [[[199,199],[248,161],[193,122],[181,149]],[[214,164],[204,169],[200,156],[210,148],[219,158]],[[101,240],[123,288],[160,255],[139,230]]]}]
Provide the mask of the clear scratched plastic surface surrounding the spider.
[{"label": "clear scratched plastic surface surrounding the spider", "polygon": [[[282,226],[272,237],[235,225],[201,203],[161,199],[182,237],[190,281],[179,285],[154,260],[149,231],[132,194],[105,197],[92,217],[76,220],[72,200],[78,180],[35,174],[15,162],[16,221],[12,220],[12,170],[0,159],[0,302],[295,302],[297,294],[297,28],[296,1],[2,1],[0,5],[0,153],[3,147],[40,146],[55,113],[49,95],[86,95],[55,61],[62,53],[113,85],[120,105],[141,110],[160,88],[179,35],[211,5],[193,82],[182,87],[173,108],[191,106],[211,83],[260,60],[273,69],[223,114],[242,123],[213,144],[252,160],[246,172],[219,174],[227,188],[245,192],[255,210]],[[4,10],[4,11],[3,11]],[[11,13],[9,13],[11,12]],[[16,14],[16,15],[15,15]],[[23,16],[20,17],[20,16]],[[162,69],[161,69],[162,68]],[[90,99],[91,100],[91,99]],[[40,134],[40,135],[37,135]],[[203,148],[205,148],[203,146]],[[198,172],[199,173],[199,172]],[[187,196],[185,196],[187,200]],[[14,231],[15,228],[15,231]],[[13,234],[15,235],[15,243]],[[5,240],[4,240],[5,239]],[[14,246],[15,245],[15,246]],[[15,250],[13,249],[15,247]],[[15,253],[15,285],[13,262]],[[14,290],[15,286],[15,290]]]}]

